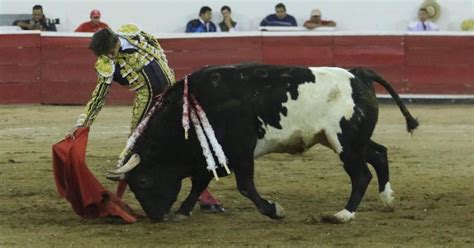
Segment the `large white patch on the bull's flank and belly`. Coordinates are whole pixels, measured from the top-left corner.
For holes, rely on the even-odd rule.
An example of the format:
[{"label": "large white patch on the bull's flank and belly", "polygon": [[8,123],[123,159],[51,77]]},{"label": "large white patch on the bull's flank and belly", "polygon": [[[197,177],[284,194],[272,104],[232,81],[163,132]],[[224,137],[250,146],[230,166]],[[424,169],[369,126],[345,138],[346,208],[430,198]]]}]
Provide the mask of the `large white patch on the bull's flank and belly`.
[{"label": "large white patch on the bull's flank and belly", "polygon": [[324,134],[330,147],[338,154],[342,146],[337,138],[341,133],[340,121],[349,120],[354,113],[350,79],[354,76],[337,67],[309,68],[316,83],[306,82],[298,86],[298,98],[283,105],[287,116],[281,115],[282,129],[267,125],[265,137],[257,141],[254,157],[272,152],[287,152],[293,147],[309,148],[320,142]]}]

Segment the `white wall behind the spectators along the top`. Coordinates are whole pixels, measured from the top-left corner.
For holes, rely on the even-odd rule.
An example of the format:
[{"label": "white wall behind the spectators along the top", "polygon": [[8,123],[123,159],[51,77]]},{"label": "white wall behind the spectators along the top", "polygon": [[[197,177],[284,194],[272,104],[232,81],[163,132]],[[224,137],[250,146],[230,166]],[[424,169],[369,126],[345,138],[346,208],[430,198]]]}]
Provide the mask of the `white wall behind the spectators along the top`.
[{"label": "white wall behind the spectators along the top", "polygon": [[[220,22],[222,5],[232,8],[241,31],[254,31],[261,19],[274,12],[280,0],[0,0],[0,14],[30,13],[35,4],[43,5],[49,18],[60,18],[58,31],[71,32],[89,19],[91,9],[102,12],[102,21],[112,28],[133,22],[150,33],[184,32],[186,22],[196,18],[201,6],[213,9],[214,22]],[[423,0],[286,0],[287,13],[298,25],[309,18],[313,8],[322,10],[323,19],[337,22],[338,30],[402,31],[416,19]],[[474,0],[438,0],[442,13],[441,30],[456,31],[464,19],[474,18]]]}]

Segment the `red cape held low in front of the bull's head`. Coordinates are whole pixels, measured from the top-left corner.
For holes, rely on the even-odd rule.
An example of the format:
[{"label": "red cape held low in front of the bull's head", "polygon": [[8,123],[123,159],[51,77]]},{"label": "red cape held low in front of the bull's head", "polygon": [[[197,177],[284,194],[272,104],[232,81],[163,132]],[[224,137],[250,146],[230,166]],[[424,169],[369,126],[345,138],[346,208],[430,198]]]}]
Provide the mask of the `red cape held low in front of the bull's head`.
[{"label": "red cape held low in front of the bull's head", "polygon": [[79,128],[75,138],[53,145],[53,173],[61,197],[84,218],[119,217],[126,223],[136,221],[132,209],[106,190],[85,163],[89,128]]}]

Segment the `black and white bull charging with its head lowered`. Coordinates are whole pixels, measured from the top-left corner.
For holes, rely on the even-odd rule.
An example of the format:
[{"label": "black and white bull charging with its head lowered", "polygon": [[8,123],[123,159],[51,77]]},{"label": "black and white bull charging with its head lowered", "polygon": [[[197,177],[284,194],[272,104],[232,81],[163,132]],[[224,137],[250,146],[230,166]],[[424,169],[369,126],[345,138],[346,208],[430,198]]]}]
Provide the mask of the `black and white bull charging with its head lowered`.
[{"label": "black and white bull charging with its head lowered", "polygon": [[[242,64],[205,67],[188,76],[189,94],[201,104],[234,171],[240,193],[260,213],[282,218],[282,208],[262,198],[254,184],[254,159],[272,152],[301,152],[315,144],[334,150],[352,183],[344,209],[324,218],[349,222],[377,173],[383,204],[393,207],[387,149],[371,140],[378,118],[373,82],[380,83],[405,116],[407,129],[418,123],[398,94],[375,72],[356,68],[292,67]],[[182,123],[183,81],[169,89],[151,117],[134,151],[142,161],[127,174],[131,190],[152,221],[166,219],[181,188],[192,177],[192,188],[177,210],[189,216],[212,173],[195,130],[185,140]],[[220,176],[227,175],[219,168]]]}]

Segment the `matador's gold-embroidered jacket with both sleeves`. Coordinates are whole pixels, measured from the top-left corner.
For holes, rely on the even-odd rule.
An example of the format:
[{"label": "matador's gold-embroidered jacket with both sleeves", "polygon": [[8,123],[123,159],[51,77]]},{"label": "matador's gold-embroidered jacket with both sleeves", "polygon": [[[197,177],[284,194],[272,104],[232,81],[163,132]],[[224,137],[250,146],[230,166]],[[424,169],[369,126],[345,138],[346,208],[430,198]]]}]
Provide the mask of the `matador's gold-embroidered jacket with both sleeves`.
[{"label": "matador's gold-embroidered jacket with both sleeves", "polygon": [[77,120],[77,126],[90,126],[94,122],[105,103],[112,81],[137,93],[132,130],[148,111],[153,96],[161,93],[165,86],[175,83],[174,73],[168,67],[164,51],[152,35],[141,31],[134,24],[123,25],[116,33],[120,39],[132,45],[133,49],[120,49],[115,59],[107,56],[97,58],[97,86]]}]

